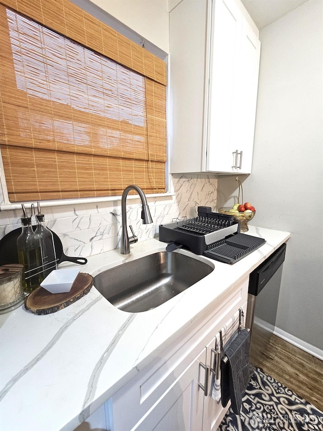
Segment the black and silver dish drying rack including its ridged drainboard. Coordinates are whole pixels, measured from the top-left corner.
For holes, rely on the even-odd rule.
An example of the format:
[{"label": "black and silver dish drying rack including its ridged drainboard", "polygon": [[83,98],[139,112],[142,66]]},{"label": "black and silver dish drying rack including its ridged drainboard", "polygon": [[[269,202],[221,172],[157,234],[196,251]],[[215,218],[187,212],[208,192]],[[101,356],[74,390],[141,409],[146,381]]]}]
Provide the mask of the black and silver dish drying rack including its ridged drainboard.
[{"label": "black and silver dish drying rack including its ridged drainboard", "polygon": [[191,252],[224,263],[244,258],[265,240],[240,233],[233,216],[213,213],[211,207],[198,207],[198,216],[159,226],[159,241],[169,243],[168,250],[184,247]]}]

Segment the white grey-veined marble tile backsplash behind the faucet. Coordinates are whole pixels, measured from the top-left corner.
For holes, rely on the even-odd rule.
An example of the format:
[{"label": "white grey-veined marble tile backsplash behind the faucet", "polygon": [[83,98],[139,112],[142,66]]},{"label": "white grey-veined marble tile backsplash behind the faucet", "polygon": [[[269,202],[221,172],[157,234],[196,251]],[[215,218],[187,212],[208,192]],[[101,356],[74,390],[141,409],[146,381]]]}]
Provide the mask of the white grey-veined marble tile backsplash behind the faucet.
[{"label": "white grey-veined marble tile backsplash behind the faucet", "polygon": [[[127,200],[127,222],[144,241],[158,235],[158,226],[173,219],[194,217],[199,205],[217,206],[218,179],[206,174],[174,174],[175,196],[147,198],[153,223],[141,223],[140,199]],[[61,238],[64,253],[88,257],[120,247],[121,201],[44,207],[45,224]],[[20,227],[20,210],[0,212],[0,238]]]}]

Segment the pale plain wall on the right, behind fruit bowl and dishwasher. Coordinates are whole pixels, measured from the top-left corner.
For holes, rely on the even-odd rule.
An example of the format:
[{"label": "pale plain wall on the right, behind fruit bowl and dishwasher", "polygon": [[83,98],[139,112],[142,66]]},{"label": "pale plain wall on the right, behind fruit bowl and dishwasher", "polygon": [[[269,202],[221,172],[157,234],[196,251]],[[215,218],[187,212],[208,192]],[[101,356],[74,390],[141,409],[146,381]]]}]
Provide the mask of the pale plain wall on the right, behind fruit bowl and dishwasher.
[{"label": "pale plain wall on the right, behind fruit bowl and dishwasher", "polygon": [[[291,231],[277,326],[323,349],[322,2],[309,0],[260,31],[252,174],[253,225]],[[242,178],[241,178],[242,179]],[[234,178],[219,178],[218,204]]]}]

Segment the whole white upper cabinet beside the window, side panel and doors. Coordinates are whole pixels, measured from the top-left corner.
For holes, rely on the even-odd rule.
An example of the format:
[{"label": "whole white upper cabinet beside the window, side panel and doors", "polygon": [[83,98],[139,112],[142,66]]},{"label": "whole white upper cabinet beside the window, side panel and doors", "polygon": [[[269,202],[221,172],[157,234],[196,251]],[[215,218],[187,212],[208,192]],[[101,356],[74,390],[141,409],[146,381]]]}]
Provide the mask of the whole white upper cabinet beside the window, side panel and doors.
[{"label": "whole white upper cabinet beside the window, side panel and doors", "polygon": [[170,171],[250,173],[260,42],[239,0],[170,13]]}]

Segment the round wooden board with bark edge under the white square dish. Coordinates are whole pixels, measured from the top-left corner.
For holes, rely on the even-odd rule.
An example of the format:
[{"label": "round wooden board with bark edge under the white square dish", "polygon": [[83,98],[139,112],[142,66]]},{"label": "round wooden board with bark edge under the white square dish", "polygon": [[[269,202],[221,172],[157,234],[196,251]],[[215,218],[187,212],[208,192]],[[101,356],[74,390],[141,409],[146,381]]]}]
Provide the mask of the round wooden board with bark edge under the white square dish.
[{"label": "round wooden board with bark edge under the white square dish", "polygon": [[34,314],[50,314],[68,307],[90,292],[93,277],[85,272],[79,272],[72,284],[70,292],[51,294],[39,287],[25,299],[25,307]]}]

